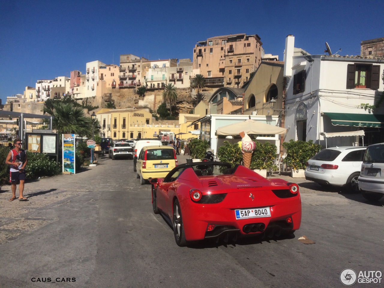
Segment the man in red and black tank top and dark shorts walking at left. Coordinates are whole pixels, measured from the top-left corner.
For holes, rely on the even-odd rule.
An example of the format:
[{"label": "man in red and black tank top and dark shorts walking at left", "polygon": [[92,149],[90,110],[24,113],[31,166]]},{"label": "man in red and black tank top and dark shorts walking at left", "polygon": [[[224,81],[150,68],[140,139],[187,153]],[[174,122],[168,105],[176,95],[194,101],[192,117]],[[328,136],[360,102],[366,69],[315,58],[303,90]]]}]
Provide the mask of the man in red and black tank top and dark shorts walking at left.
[{"label": "man in red and black tank top and dark shorts walking at left", "polygon": [[21,139],[15,139],[13,141],[15,146],[14,149],[9,151],[7,158],[5,159],[5,164],[10,165],[10,177],[9,182],[12,187],[12,198],[10,201],[15,200],[16,197],[16,185],[19,184],[19,200],[20,201],[28,201],[26,197],[23,197],[24,191],[24,182],[25,182],[25,166],[28,162],[26,157],[25,150],[22,149],[22,141]]}]

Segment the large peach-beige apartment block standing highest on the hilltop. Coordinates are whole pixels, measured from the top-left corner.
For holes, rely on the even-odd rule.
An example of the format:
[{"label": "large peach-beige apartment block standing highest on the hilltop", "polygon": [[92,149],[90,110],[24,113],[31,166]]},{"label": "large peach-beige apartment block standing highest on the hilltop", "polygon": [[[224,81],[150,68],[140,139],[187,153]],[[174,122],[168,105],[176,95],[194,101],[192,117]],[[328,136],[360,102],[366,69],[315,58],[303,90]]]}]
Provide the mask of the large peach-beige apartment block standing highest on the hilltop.
[{"label": "large peach-beige apartment block standing highest on the hilltop", "polygon": [[193,69],[205,77],[206,86],[239,88],[264,56],[258,35],[231,34],[198,41],[194,47]]}]

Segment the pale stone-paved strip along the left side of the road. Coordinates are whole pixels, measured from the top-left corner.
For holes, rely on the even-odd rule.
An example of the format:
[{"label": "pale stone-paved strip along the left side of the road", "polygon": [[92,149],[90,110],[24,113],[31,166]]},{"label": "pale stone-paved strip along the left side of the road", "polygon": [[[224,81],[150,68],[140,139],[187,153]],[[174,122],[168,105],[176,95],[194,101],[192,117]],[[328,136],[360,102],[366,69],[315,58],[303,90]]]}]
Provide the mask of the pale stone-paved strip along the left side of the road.
[{"label": "pale stone-paved strip along the left side of the road", "polygon": [[[100,162],[106,159],[104,157]],[[11,186],[3,185],[0,191],[0,245],[17,239],[23,233],[57,221],[57,217],[40,217],[39,212],[65,205],[72,199],[90,192],[92,188],[84,186],[83,183],[85,179],[97,175],[97,168],[83,168],[76,175],[27,180],[23,195],[28,201],[16,199],[10,202]],[[18,187],[16,194],[18,195]]]}]

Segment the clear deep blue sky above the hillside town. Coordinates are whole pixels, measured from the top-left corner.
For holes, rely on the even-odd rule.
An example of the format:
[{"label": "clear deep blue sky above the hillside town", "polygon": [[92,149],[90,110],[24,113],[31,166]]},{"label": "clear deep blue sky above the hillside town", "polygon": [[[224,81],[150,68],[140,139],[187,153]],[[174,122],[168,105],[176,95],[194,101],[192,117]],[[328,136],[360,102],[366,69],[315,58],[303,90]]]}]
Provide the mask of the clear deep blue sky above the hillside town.
[{"label": "clear deep blue sky above the hillside town", "polygon": [[[85,72],[85,63],[119,64],[132,53],[192,58],[196,41],[258,34],[283,60],[285,37],[323,54],[359,55],[360,41],[384,37],[384,1],[4,1],[0,0],[0,98],[38,79]],[[114,57],[113,57],[114,55]]]}]

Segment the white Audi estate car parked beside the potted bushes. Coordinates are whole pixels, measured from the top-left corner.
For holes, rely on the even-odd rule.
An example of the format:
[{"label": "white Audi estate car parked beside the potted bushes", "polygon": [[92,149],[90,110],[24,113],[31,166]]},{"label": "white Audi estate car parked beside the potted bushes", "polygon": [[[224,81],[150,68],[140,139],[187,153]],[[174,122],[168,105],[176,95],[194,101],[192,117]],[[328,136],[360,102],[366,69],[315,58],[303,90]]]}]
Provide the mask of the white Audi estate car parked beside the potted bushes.
[{"label": "white Audi estate car parked beside the potted bushes", "polygon": [[358,192],[358,178],[366,149],[358,146],[323,149],[306,163],[305,179]]}]

